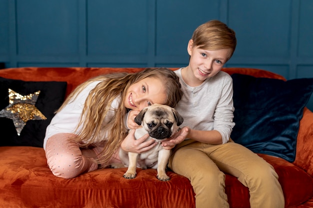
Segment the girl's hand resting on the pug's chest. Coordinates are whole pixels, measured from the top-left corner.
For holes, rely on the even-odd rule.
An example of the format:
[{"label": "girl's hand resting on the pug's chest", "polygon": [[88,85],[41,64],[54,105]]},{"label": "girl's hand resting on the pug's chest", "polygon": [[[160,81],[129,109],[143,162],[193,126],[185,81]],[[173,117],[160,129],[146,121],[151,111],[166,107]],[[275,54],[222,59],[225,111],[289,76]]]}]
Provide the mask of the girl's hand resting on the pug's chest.
[{"label": "girl's hand resting on the pug's chest", "polygon": [[145,134],[144,136],[136,140],[134,137],[134,132],[135,129],[131,129],[128,135],[122,141],[122,143],[120,144],[122,150],[126,152],[142,153],[150,150],[157,144],[152,139],[145,141],[149,137],[148,134]]}]

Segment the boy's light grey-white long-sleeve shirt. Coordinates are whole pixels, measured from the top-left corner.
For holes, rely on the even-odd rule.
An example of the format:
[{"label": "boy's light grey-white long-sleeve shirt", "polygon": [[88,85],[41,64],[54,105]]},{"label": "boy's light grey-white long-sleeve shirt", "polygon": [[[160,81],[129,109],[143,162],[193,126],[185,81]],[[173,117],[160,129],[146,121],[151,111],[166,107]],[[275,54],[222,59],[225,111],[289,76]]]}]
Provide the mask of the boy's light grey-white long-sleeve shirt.
[{"label": "boy's light grey-white long-sleeve shirt", "polygon": [[232,79],[229,74],[219,71],[200,86],[190,87],[182,79],[181,68],[175,73],[183,91],[175,107],[183,117],[182,126],[201,131],[216,130],[222,136],[222,143],[228,142],[234,127]]}]

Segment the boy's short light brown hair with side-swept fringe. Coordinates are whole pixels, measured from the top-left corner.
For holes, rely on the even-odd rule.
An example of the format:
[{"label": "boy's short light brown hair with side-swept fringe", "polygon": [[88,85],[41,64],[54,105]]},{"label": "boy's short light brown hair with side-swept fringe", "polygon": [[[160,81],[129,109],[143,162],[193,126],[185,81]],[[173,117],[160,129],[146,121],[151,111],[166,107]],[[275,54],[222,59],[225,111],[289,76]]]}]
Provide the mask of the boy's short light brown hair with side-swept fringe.
[{"label": "boy's short light brown hair with side-swept fringe", "polygon": [[232,56],[237,44],[235,32],[218,20],[207,21],[198,26],[191,39],[193,47],[199,46],[205,50],[230,48],[231,53],[228,59]]}]

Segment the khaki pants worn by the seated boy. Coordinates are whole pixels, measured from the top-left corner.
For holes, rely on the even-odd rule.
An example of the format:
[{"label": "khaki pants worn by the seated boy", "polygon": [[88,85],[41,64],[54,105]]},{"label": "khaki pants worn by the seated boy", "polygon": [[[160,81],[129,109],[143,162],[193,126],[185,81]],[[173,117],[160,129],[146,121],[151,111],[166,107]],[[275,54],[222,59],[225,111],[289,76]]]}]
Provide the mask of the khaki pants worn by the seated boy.
[{"label": "khaki pants worn by the seated boy", "polygon": [[224,173],[249,188],[251,208],[284,208],[273,167],[234,142],[209,145],[186,140],[173,149],[168,167],[190,180],[196,208],[229,208]]}]

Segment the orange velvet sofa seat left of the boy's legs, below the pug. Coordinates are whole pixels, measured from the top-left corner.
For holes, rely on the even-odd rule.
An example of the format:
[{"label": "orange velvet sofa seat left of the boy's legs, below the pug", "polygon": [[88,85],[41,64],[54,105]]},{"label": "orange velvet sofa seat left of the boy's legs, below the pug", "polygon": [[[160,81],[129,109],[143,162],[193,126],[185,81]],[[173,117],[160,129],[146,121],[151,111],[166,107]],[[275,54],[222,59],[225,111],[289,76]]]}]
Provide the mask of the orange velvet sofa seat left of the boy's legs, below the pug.
[{"label": "orange velvet sofa seat left of the boy's legs, below the pug", "polygon": [[0,147],[0,153],[1,208],[194,208],[189,180],[171,171],[166,182],[155,169],[124,179],[126,168],[62,179],[47,167],[43,148]]}]

